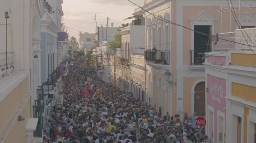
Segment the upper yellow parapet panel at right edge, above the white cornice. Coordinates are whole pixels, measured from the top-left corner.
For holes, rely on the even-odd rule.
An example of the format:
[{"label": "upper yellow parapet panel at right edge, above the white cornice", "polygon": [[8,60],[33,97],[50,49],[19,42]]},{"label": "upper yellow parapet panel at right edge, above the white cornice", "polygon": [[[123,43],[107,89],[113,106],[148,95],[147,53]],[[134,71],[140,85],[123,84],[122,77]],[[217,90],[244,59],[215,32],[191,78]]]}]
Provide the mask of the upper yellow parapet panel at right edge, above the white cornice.
[{"label": "upper yellow parapet panel at right edge, above the white cornice", "polygon": [[232,65],[256,67],[255,61],[256,61],[255,54],[238,54],[238,53],[231,54]]}]

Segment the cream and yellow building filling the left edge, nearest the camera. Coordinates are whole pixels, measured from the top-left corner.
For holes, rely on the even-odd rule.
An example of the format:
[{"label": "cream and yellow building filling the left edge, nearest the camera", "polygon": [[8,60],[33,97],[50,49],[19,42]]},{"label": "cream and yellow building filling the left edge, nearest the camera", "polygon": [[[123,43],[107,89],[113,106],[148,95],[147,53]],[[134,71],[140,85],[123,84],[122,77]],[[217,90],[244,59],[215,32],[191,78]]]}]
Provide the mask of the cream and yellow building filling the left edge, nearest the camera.
[{"label": "cream and yellow building filling the left edge, nearest the camera", "polygon": [[[38,118],[33,118],[35,89],[40,78],[40,19],[42,0],[3,0],[0,13],[0,143],[42,142],[35,138]],[[5,40],[7,38],[7,66]],[[7,70],[6,70],[7,69]],[[6,73],[7,72],[7,73]]]}]

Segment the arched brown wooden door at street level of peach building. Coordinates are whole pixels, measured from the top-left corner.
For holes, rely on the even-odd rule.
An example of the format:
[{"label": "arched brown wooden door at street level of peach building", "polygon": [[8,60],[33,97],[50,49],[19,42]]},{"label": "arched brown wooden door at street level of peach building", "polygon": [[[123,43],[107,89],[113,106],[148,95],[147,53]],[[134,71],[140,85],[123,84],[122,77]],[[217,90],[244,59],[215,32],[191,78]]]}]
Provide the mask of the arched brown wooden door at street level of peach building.
[{"label": "arched brown wooden door at street level of peach building", "polygon": [[205,82],[199,82],[195,87],[195,109],[197,116],[205,114]]}]

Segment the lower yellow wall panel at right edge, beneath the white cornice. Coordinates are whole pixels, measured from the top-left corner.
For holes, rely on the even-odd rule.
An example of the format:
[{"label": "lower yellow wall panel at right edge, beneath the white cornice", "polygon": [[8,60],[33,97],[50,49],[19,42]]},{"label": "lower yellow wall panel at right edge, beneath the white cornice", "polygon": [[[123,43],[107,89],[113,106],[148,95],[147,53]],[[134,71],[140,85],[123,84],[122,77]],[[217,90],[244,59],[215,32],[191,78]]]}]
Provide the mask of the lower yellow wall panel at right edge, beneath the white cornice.
[{"label": "lower yellow wall panel at right edge, beneath the white cornice", "polygon": [[256,87],[232,82],[233,96],[256,103],[255,93],[256,93]]}]

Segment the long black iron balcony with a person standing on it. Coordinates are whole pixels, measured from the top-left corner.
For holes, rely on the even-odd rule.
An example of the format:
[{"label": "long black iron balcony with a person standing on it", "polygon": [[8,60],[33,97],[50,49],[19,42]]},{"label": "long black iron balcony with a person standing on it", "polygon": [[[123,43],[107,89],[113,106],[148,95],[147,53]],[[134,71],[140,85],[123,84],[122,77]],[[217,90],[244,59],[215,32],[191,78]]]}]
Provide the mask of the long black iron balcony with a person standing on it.
[{"label": "long black iron balcony with a person standing on it", "polygon": [[145,51],[145,60],[155,64],[170,64],[170,51]]}]

